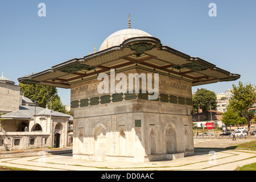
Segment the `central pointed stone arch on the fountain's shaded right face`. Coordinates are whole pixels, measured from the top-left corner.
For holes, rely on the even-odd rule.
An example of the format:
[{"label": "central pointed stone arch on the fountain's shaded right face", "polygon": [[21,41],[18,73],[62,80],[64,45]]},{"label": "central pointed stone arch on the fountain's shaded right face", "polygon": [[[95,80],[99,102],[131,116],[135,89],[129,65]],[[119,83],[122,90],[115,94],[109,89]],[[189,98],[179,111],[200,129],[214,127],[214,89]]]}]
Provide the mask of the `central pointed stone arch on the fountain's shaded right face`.
[{"label": "central pointed stone arch on the fountain's shaded right face", "polygon": [[168,122],[164,127],[166,134],[166,153],[175,154],[177,152],[177,130],[172,122]]}]

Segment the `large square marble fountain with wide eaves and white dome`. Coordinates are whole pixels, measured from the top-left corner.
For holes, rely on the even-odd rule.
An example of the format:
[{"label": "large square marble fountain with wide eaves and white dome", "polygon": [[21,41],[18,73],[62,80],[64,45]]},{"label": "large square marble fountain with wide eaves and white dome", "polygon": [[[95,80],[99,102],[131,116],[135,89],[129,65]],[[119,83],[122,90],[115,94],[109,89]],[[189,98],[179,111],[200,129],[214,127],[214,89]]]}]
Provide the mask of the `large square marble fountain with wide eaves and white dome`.
[{"label": "large square marble fountain with wide eaves and white dome", "polygon": [[[148,100],[143,80],[139,93],[115,93],[111,86],[99,93],[100,73],[110,85],[121,81],[118,73],[158,74],[158,97]],[[145,162],[193,155],[192,86],[238,78],[129,27],[106,38],[98,52],[18,80],[71,89],[73,158]]]}]

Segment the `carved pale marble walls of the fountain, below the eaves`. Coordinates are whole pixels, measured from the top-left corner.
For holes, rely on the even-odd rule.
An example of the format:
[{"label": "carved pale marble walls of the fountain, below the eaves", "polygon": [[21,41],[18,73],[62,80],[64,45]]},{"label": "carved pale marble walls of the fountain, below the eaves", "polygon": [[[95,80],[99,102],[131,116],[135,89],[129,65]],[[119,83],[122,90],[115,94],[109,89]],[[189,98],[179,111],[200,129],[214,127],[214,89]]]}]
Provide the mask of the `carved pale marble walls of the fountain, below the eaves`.
[{"label": "carved pale marble walls of the fountain, below the eaves", "polygon": [[147,100],[147,93],[100,94],[99,83],[71,85],[73,158],[144,162],[193,155],[191,82],[159,75],[158,100]]}]

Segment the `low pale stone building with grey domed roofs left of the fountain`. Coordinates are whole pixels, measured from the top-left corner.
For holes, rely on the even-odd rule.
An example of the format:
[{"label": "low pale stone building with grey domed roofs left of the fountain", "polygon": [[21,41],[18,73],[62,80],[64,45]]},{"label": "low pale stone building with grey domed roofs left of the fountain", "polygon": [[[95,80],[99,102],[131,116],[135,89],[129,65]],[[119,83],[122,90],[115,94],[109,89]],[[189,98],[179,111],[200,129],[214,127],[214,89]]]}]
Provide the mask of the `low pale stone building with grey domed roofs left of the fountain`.
[{"label": "low pale stone building with grey domed roofs left of the fountain", "polygon": [[0,77],[0,151],[70,145],[73,117],[35,106],[20,88]]}]

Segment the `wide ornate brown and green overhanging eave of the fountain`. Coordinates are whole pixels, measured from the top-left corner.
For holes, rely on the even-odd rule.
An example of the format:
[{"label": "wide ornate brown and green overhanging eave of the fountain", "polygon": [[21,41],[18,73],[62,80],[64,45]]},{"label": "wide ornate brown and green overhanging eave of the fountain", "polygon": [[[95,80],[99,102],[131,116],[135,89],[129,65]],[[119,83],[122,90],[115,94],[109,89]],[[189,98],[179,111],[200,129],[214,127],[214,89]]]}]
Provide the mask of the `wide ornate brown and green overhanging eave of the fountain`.
[{"label": "wide ornate brown and green overhanging eave of the fountain", "polygon": [[[137,50],[137,47],[140,49]],[[138,52],[142,48],[145,50]],[[18,78],[18,81],[25,84],[70,88],[72,83],[96,77],[101,72],[134,67],[134,64],[156,69],[164,74],[169,72],[188,81],[192,80],[192,86],[240,78],[240,75],[218,68],[199,57],[191,57],[173,48],[162,46],[157,38],[137,37],[125,40],[119,46],[65,61],[28,77]]]}]

